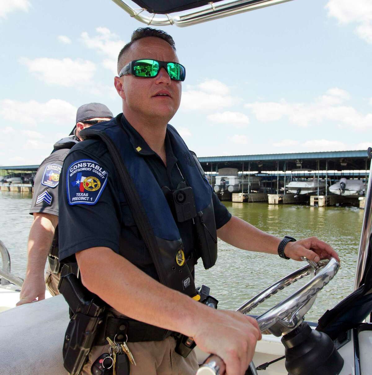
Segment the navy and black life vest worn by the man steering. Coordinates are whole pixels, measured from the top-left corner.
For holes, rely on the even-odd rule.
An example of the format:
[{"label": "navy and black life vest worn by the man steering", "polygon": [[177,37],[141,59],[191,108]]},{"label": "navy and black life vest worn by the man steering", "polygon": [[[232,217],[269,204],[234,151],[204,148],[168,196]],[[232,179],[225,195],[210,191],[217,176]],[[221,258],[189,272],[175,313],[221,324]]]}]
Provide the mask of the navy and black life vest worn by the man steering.
[{"label": "navy and black life vest worn by the man steering", "polygon": [[[84,129],[80,136],[83,139],[99,138],[107,145],[160,282],[193,297],[197,293],[187,262],[182,259],[183,242],[177,224],[153,173],[130,143],[121,116]],[[187,185],[193,189],[198,213],[194,218],[196,254],[202,258],[205,269],[208,269],[217,259],[212,189],[196,156],[190,153],[174,127],[168,124],[166,131],[181,173]],[[131,196],[135,197],[134,201]],[[125,257],[125,249],[119,249],[119,253]]]}]

